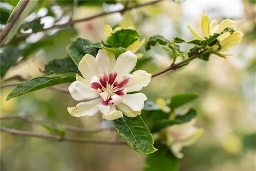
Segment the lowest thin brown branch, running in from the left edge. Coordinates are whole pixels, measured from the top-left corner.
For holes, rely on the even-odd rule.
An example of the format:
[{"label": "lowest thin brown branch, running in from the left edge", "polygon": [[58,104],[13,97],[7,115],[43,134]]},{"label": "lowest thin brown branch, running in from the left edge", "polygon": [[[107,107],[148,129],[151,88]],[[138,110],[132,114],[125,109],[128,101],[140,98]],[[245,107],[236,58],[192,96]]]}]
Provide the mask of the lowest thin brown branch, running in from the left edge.
[{"label": "lowest thin brown branch, running in from the left edge", "polygon": [[0,128],[0,131],[7,132],[13,135],[22,135],[28,137],[35,137],[41,139],[48,139],[54,141],[69,141],[69,142],[80,142],[80,143],[95,143],[95,144],[109,144],[109,145],[124,145],[124,141],[104,141],[104,140],[95,140],[95,139],[84,139],[84,138],[75,138],[75,137],[59,137],[56,135],[46,135],[46,134],[37,134],[29,131],[19,131],[9,128]]}]

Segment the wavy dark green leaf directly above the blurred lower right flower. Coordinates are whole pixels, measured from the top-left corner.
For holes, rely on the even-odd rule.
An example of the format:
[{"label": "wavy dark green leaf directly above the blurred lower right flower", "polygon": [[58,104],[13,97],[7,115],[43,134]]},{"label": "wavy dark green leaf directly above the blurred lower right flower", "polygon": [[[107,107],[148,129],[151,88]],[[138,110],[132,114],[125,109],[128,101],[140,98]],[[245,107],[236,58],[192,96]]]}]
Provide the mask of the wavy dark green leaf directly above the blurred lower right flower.
[{"label": "wavy dark green leaf directly above the blurred lower right flower", "polygon": [[173,126],[176,124],[184,124],[189,122],[191,119],[197,116],[197,111],[191,108],[185,115],[178,115],[175,119],[162,119],[158,121],[155,127],[152,129],[152,132],[158,132],[163,128]]}]

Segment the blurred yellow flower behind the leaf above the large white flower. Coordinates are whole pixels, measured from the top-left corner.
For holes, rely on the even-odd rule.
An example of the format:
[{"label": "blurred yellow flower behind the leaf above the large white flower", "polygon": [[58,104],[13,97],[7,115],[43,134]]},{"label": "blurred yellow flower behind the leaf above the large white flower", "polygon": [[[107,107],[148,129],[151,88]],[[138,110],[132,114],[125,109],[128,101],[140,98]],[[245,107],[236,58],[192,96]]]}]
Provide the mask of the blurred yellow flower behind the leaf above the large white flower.
[{"label": "blurred yellow flower behind the leaf above the large white flower", "polygon": [[[127,28],[134,29],[133,27],[127,27]],[[112,30],[111,26],[109,26],[109,25],[104,26],[106,37],[109,37],[112,33],[116,32],[118,30],[121,30],[121,29],[126,29],[126,28],[116,27],[114,30]],[[145,41],[146,41],[145,38],[143,38],[141,41],[140,41],[140,39],[138,39],[133,44],[131,44],[129,47],[127,47],[126,50],[136,53],[145,44]]]}]

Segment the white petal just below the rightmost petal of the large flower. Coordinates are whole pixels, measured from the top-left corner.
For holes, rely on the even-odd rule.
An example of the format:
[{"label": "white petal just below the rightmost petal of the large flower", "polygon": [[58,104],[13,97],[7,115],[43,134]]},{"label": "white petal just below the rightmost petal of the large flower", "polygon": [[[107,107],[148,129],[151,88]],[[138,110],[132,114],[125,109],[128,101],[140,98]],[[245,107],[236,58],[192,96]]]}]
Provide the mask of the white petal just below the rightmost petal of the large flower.
[{"label": "white petal just below the rightmost petal of the large flower", "polygon": [[135,94],[126,94],[121,96],[122,103],[129,106],[134,111],[141,111],[144,107],[144,101],[147,100],[145,94],[139,92]]}]

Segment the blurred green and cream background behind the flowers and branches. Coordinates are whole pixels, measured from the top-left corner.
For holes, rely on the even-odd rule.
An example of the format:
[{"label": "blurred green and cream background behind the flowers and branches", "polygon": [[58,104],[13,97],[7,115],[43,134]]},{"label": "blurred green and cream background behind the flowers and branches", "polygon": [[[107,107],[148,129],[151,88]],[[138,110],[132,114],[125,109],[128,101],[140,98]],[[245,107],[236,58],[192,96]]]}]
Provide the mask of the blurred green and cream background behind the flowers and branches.
[{"label": "blurred green and cream background behind the flowers and branches", "polygon": [[[45,6],[48,6],[47,1]],[[121,4],[79,6],[74,9],[73,18],[85,18],[120,8],[123,8]],[[45,28],[56,22],[56,16],[62,16],[57,22],[67,22],[65,7],[54,5],[49,9],[54,16],[43,17]],[[157,97],[169,98],[176,93],[200,93],[200,99],[189,105],[197,108],[197,126],[204,129],[204,134],[194,145],[183,149],[184,158],[179,162],[181,171],[256,170],[256,5],[253,1],[163,1],[154,6],[125,12],[123,17],[121,14],[112,14],[76,23],[75,29],[62,29],[57,33],[51,31],[50,40],[42,38],[44,33],[37,33],[26,40],[34,43],[31,45],[33,51],[29,49],[27,60],[13,66],[5,79],[17,74],[25,78],[42,76],[40,70],[44,70],[44,65],[52,59],[65,58],[67,45],[77,37],[93,42],[105,40],[105,24],[112,27],[133,25],[139,30],[142,38],[160,34],[167,39],[181,37],[190,40],[192,36],[187,25],[200,31],[203,11],[206,11],[210,20],[230,18],[238,22],[238,30],[244,32],[244,37],[240,44],[226,53],[232,56],[227,59],[211,56],[208,62],[194,60],[177,71],[153,78],[143,92],[153,101]],[[190,46],[181,48],[187,52]],[[145,52],[143,47],[139,52],[153,57],[150,63],[142,66],[148,72],[153,73],[172,63],[172,59],[157,47],[149,52]],[[76,105],[69,94],[44,89],[6,102],[5,99],[13,88],[1,89],[1,116],[23,113],[31,118],[76,127],[100,127],[100,114],[81,118],[68,114],[67,107]],[[49,133],[41,126],[20,120],[1,121],[1,127]],[[254,134],[254,139],[248,138],[251,134]],[[68,135],[102,140],[121,139],[115,131]],[[55,142],[3,132],[0,137],[1,170],[137,171],[145,166],[146,156],[133,151],[127,145]]]}]

